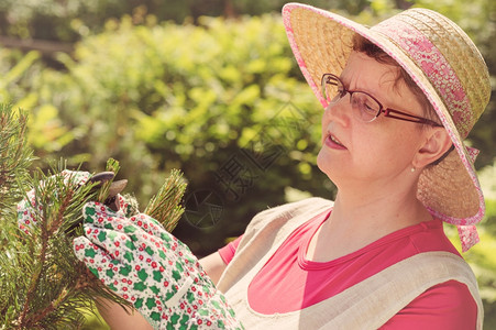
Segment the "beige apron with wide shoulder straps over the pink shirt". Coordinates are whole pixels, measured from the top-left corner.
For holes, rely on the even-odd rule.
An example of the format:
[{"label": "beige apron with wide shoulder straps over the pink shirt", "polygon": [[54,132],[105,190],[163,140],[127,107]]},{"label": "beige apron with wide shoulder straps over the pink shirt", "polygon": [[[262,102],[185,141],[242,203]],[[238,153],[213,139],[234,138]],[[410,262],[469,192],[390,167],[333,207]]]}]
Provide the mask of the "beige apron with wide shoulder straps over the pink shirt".
[{"label": "beige apron with wide shoulder straps over the pink shirt", "polygon": [[329,200],[310,198],[268,209],[252,220],[218,285],[245,329],[377,329],[428,288],[451,279],[469,287],[477,304],[476,329],[482,329],[484,312],[475,276],[463,258],[449,252],[414,255],[302,310],[254,311],[247,302],[254,276],[294,230],[331,206]]}]

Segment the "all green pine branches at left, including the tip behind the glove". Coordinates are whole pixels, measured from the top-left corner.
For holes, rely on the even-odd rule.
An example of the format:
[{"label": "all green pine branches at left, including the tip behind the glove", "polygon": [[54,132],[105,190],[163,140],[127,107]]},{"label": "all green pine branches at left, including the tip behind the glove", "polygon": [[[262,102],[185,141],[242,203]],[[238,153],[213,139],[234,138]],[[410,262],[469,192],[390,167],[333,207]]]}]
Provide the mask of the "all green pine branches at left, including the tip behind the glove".
[{"label": "all green pine branches at left, including the tip behind the glove", "polygon": [[[36,170],[30,177],[25,114],[0,106],[0,329],[78,328],[98,297],[129,308],[131,304],[97,280],[73,252],[74,237],[84,234],[84,205],[107,202],[115,189],[112,179],[81,186],[59,175],[66,168],[63,161],[46,175]],[[119,162],[109,160],[106,169],[117,174]],[[34,200],[27,205],[37,221],[24,232],[18,227],[15,205],[23,197],[30,200],[25,191],[31,188]],[[173,170],[145,212],[172,231],[184,211],[185,189],[180,172]],[[135,199],[128,198],[128,211],[139,212]]]}]

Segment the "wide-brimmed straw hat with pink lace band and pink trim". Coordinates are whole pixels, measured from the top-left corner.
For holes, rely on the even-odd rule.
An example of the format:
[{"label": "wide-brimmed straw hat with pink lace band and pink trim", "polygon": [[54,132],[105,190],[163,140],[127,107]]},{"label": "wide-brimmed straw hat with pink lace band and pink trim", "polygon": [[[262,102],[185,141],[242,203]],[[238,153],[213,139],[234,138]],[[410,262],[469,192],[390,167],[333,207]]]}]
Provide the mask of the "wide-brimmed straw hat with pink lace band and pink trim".
[{"label": "wide-brimmed straw hat with pink lace band and pink trim", "polygon": [[338,14],[300,3],[283,8],[293,53],[313,94],[323,74],[340,75],[355,33],[393,57],[422,89],[448,131],[455,152],[422,170],[418,198],[437,218],[459,228],[463,251],[478,242],[475,223],[484,216],[484,197],[474,169],[476,150],[463,140],[491,96],[489,74],[469,36],[445,16],[410,9],[367,28]]}]

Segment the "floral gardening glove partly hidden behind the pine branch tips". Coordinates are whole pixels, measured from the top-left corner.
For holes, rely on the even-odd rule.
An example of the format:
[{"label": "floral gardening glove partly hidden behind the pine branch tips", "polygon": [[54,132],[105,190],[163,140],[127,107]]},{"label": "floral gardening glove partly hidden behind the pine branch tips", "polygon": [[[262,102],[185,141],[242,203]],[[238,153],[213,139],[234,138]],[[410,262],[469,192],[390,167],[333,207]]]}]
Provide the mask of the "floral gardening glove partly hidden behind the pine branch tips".
[{"label": "floral gardening glove partly hidden behind the pine branch tips", "polygon": [[[89,172],[65,169],[59,174],[48,177],[47,179],[55,179],[55,177],[59,175],[64,177],[65,185],[70,184],[77,187],[87,183],[96,183],[97,185],[95,188],[100,187],[104,182],[114,177],[112,172],[102,172],[91,175]],[[109,188],[109,197],[106,200],[106,205],[110,206],[113,210],[122,210],[124,213],[131,211],[131,206],[129,201],[125,200],[119,193],[124,189],[126,183],[128,180],[113,182]],[[40,186],[43,186],[44,184],[44,182],[41,182]],[[26,197],[18,204],[18,224],[24,232],[27,232],[32,226],[36,224],[38,217],[43,211],[43,206],[36,206],[35,193],[36,190],[34,188],[31,189],[27,191]],[[54,191],[53,194],[56,195],[57,191]]]}]

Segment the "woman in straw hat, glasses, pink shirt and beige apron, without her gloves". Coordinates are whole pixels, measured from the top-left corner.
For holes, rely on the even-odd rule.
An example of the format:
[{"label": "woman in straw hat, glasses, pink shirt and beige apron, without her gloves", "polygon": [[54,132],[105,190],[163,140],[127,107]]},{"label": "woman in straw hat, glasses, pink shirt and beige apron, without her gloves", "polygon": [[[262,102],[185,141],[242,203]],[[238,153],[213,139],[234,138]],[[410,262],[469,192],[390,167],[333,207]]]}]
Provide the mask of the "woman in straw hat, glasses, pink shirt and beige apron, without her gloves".
[{"label": "woman in straw hat, glasses, pink shirt and beige apron, without her gloves", "polygon": [[338,194],[261,212],[203,270],[246,329],[481,329],[475,277],[442,221],[464,251],[476,243],[484,198],[463,139],[489,98],[482,56],[429,10],[372,29],[298,3],[283,16],[324,108],[318,166]]}]

